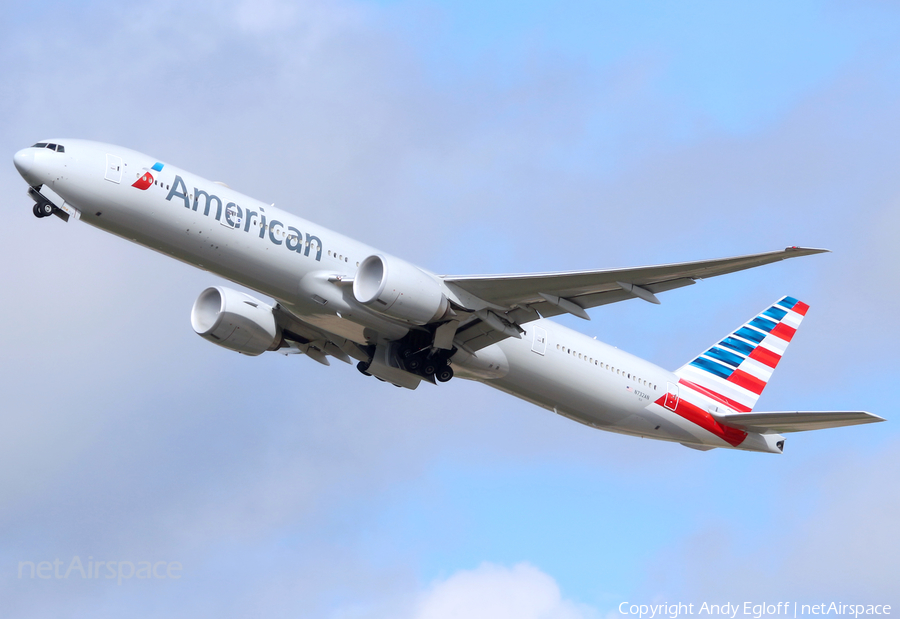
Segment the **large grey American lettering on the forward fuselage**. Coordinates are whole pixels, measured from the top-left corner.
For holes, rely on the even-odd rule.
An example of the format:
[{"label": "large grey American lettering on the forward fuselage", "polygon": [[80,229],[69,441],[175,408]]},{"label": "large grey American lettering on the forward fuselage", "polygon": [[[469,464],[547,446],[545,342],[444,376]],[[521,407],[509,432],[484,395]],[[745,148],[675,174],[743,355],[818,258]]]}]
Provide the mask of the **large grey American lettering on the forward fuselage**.
[{"label": "large grey American lettering on the forward fuselage", "polygon": [[[160,165],[160,169],[162,169],[162,164],[157,165]],[[154,166],[155,168],[156,166]],[[153,176],[149,171],[138,179],[133,186],[138,187],[138,183],[145,176],[150,177],[147,183],[149,187],[153,183]],[[138,187],[138,189],[144,189],[144,187]],[[172,182],[172,188],[169,190],[166,200],[172,201],[173,198],[183,201],[184,208],[193,211],[199,211],[202,198],[203,215],[206,217],[214,216],[216,221],[223,226],[234,230],[243,230],[248,233],[251,227],[258,227],[259,238],[265,239],[268,237],[269,242],[273,245],[283,245],[289,251],[294,251],[304,256],[309,256],[310,249],[315,247],[315,259],[322,260],[322,240],[319,237],[313,236],[308,232],[304,237],[300,230],[294,226],[286,226],[277,219],[266,221],[266,210],[263,207],[259,207],[257,212],[249,208],[242,208],[234,202],[228,202],[223,206],[222,199],[215,194],[203,191],[197,187],[194,187],[193,192],[189,192],[184,184],[184,179],[177,175]]]}]

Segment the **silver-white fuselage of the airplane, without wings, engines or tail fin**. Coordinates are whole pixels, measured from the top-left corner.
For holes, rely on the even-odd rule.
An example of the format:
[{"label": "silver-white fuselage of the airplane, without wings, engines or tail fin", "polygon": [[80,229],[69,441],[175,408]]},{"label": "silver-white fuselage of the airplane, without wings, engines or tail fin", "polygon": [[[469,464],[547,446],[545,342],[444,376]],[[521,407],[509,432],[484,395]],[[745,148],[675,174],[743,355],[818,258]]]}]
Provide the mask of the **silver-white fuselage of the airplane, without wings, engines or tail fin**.
[{"label": "silver-white fuselage of the airplane, without wings, engines or tail fin", "polygon": [[[50,187],[65,200],[58,206],[77,209],[82,221],[270,296],[303,322],[346,340],[367,344],[373,330],[398,338],[408,330],[345,303],[328,283],[353,278],[375,248],[171,164],[153,170],[159,164],[147,155],[61,142],[65,153],[25,149],[16,164],[29,184]],[[151,170],[149,186],[133,186]],[[675,414],[666,404],[677,400],[678,378],[668,370],[546,319],[524,328],[521,339],[474,356],[458,353],[451,359],[456,375],[604,430],[771,451],[758,435],[729,444]]]}]

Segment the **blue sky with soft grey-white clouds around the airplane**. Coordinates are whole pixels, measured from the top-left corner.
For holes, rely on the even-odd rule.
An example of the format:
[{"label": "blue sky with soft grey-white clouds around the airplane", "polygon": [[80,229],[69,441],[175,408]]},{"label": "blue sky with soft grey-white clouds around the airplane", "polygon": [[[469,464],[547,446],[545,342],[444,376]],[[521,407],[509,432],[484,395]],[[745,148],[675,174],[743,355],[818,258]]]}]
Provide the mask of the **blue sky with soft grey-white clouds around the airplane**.
[{"label": "blue sky with soft grey-white clouds around the airplane", "polygon": [[[895,4],[0,11],[4,617],[897,612]],[[438,273],[828,248],[562,321],[674,369],[789,294],[811,310],[757,408],[888,421],[790,435],[782,456],[701,453],[463,380],[408,391],[234,354],[189,323],[219,278],[32,215],[12,156],[65,137],[146,152]],[[117,577],[19,574],[76,558]],[[159,576],[125,576],[147,562]]]}]

